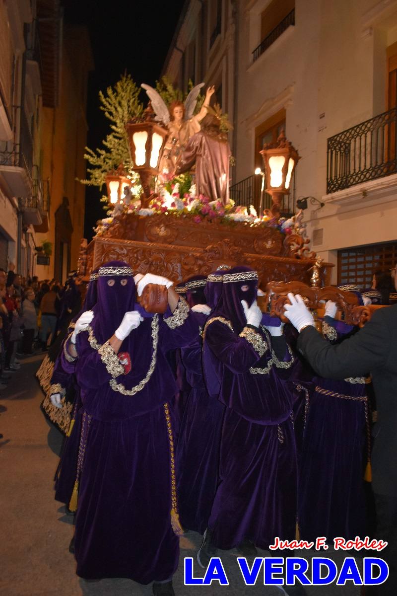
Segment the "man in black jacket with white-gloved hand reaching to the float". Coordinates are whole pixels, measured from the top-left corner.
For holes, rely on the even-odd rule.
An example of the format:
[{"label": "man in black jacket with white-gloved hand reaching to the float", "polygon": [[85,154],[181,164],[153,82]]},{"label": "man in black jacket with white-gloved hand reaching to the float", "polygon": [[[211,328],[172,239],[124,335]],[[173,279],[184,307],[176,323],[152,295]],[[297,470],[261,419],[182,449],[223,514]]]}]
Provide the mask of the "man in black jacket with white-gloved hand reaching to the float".
[{"label": "man in black jacket with white-gloved hand reaching to the float", "polygon": [[288,294],[285,315],[299,331],[297,347],[317,374],[326,378],[371,373],[377,403],[371,456],[376,501],[377,538],[388,543],[379,555],[389,565],[389,579],[376,594],[397,594],[397,305],[379,309],[349,339],[331,345],[315,330],[302,297]]}]

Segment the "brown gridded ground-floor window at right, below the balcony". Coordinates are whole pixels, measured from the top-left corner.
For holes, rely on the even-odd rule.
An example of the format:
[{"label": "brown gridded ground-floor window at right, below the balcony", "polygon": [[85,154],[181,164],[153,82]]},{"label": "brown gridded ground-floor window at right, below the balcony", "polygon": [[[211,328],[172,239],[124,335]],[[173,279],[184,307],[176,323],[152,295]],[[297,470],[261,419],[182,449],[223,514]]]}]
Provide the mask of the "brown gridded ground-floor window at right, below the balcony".
[{"label": "brown gridded ground-floor window at right, below the balcony", "polygon": [[370,288],[375,271],[389,272],[397,262],[397,243],[342,249],[337,252],[337,284]]}]

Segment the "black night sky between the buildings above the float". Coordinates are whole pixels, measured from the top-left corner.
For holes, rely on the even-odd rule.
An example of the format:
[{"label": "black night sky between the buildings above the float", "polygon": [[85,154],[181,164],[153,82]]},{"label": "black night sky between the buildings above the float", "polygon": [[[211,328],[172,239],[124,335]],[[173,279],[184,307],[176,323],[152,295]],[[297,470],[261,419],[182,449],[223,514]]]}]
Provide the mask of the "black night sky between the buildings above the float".
[{"label": "black night sky between the buildings above the float", "polygon": [[[137,85],[149,83],[154,86],[160,77],[183,4],[185,0],[64,1],[65,21],[88,27],[95,61],[95,71],[90,73],[88,86],[88,147],[99,147],[110,132],[109,121],[99,110],[98,92],[114,85],[125,70]],[[105,217],[100,197],[97,187],[86,187],[85,237],[88,240],[92,238],[96,220]]]}]

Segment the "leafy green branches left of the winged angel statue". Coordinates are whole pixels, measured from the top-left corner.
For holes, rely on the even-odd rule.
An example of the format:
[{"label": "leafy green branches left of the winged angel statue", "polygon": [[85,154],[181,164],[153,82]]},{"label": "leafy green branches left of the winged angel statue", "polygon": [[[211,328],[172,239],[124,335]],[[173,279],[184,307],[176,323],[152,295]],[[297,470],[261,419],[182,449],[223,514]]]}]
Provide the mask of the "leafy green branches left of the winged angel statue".
[{"label": "leafy green branches left of the winged angel statue", "polygon": [[143,104],[139,101],[139,93],[140,88],[126,74],[121,76],[114,87],[108,87],[106,94],[99,92],[99,107],[111,122],[111,132],[102,141],[103,148],[92,150],[86,147],[84,157],[89,163],[88,179],[80,180],[82,184],[101,188],[105,184],[107,173],[117,169],[120,163],[124,164],[129,177],[134,178],[125,126],[129,120],[142,117]]}]

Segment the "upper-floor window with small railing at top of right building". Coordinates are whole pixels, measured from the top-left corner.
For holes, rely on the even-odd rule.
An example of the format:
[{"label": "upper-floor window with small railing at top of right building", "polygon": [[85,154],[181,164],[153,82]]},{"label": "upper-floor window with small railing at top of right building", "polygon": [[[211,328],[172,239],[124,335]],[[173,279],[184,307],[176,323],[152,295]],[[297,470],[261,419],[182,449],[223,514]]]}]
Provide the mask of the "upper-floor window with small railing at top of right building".
[{"label": "upper-floor window with small railing at top of right building", "polygon": [[295,0],[273,0],[261,14],[261,43],[254,49],[254,62],[290,26],[295,25]]}]

